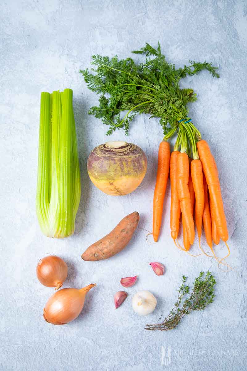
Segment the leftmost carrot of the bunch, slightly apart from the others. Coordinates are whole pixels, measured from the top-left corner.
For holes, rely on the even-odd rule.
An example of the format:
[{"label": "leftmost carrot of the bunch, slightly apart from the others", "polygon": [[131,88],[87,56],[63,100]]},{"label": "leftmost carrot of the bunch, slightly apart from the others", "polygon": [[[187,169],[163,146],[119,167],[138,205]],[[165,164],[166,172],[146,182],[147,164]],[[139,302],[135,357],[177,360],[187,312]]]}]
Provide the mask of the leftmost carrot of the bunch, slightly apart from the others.
[{"label": "leftmost carrot of the bunch, slightly apart from the others", "polygon": [[153,200],[153,238],[155,242],[158,241],[158,236],[160,234],[169,165],[170,144],[166,141],[162,141],[158,150],[158,169]]}]

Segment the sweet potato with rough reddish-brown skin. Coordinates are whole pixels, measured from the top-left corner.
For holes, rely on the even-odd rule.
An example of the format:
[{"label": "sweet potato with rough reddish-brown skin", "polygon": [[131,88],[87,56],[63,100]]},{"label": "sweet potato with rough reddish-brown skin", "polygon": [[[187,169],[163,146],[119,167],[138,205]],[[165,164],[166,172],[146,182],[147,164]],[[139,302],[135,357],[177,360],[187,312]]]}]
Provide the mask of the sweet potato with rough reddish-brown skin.
[{"label": "sweet potato with rough reddish-brown skin", "polygon": [[108,259],[119,253],[130,242],[139,219],[137,211],[128,214],[110,233],[89,246],[81,258],[86,261],[96,261]]}]

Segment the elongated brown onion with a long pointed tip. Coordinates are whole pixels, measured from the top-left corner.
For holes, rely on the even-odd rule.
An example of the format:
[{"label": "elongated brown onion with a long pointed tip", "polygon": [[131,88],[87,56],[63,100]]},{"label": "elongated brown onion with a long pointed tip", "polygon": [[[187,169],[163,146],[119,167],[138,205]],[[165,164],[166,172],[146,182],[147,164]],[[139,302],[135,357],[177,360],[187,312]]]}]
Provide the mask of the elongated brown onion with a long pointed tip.
[{"label": "elongated brown onion with a long pointed tip", "polygon": [[55,292],[44,307],[44,319],[53,325],[65,325],[73,321],[82,311],[87,292],[94,286],[96,283],[80,290],[68,288]]}]

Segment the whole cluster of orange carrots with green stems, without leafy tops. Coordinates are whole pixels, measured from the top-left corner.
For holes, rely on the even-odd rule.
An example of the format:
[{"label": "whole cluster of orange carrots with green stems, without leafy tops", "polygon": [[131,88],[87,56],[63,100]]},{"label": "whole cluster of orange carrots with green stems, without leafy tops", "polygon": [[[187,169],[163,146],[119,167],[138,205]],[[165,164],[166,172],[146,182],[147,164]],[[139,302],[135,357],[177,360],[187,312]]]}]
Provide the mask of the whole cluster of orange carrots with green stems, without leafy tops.
[{"label": "whole cluster of orange carrots with green stems, without leafy tops", "polygon": [[[175,132],[177,132],[177,140],[174,151],[170,154],[170,144],[167,139]],[[228,230],[218,170],[208,143],[201,139],[201,134],[192,124],[191,119],[179,120],[176,130],[171,129],[160,144],[153,200],[155,242],[160,233],[169,170],[171,180],[170,228],[174,243],[181,250],[188,252],[194,242],[196,226],[199,247],[205,255],[210,256],[201,247],[203,226],[213,257],[218,264],[222,263],[229,256],[230,250],[227,245]],[[180,216],[183,224],[183,246],[178,243]],[[215,255],[213,249],[213,242],[218,244],[220,239],[226,243],[228,249],[227,256],[221,260]]]}]

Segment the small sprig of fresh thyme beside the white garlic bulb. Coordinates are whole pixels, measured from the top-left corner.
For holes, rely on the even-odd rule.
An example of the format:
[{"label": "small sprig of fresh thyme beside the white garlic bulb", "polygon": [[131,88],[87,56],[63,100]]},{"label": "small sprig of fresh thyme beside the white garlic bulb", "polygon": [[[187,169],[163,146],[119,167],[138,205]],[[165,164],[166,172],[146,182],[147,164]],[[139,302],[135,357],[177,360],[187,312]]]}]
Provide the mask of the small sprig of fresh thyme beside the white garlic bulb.
[{"label": "small sprig of fresh thyme beside the white garlic bulb", "polygon": [[[200,272],[193,283],[191,294],[189,286],[185,284],[186,280],[187,277],[183,276],[183,283],[178,290],[177,301],[168,316],[163,322],[146,325],[146,330],[171,330],[179,324],[184,316],[190,314],[192,311],[201,311],[213,302],[216,280],[209,271],[206,273],[205,278],[204,272]],[[187,295],[189,296],[187,297]]]}]

